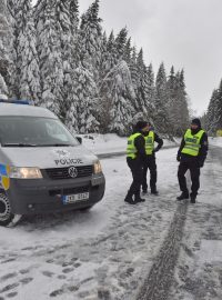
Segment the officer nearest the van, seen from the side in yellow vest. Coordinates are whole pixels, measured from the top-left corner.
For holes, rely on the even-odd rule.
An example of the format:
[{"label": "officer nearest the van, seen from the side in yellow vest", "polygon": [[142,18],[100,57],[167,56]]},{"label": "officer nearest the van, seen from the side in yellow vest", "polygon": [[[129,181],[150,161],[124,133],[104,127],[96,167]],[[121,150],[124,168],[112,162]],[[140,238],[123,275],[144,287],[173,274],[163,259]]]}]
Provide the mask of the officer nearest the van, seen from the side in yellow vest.
[{"label": "officer nearest the van, seen from the side in yellow vest", "polygon": [[148,122],[139,121],[133,133],[128,138],[127,163],[132,172],[133,181],[124,201],[130,204],[145,201],[140,197],[142,169],[145,160],[145,140],[143,137],[145,131],[148,131]]}]

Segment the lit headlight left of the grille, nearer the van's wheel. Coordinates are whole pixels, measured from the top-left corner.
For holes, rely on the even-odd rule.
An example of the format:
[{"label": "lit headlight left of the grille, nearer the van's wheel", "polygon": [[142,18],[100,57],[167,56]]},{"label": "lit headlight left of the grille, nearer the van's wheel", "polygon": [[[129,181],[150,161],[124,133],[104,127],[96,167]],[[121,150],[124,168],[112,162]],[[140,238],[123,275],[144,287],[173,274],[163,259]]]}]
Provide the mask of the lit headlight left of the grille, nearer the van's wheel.
[{"label": "lit headlight left of the grille, nearer the van's wheel", "polygon": [[42,178],[42,173],[39,168],[11,167],[10,178],[38,179]]}]

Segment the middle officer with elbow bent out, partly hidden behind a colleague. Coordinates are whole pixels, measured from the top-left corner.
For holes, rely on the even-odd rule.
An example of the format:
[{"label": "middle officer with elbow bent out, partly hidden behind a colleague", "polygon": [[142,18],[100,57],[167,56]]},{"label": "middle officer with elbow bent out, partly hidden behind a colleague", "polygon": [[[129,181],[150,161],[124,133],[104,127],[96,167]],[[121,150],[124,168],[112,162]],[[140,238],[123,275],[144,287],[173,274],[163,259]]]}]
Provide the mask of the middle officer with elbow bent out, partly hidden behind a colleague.
[{"label": "middle officer with elbow bent out, partly hidden behind a colleague", "polygon": [[[143,179],[142,179],[142,191],[143,194],[148,193],[147,173],[150,170],[150,189],[151,193],[158,196],[157,190],[157,163],[155,152],[158,152],[163,146],[163,140],[152,130],[151,123],[148,123],[148,131],[144,133],[145,139],[145,160],[143,166]],[[154,142],[158,146],[154,148]]]}]

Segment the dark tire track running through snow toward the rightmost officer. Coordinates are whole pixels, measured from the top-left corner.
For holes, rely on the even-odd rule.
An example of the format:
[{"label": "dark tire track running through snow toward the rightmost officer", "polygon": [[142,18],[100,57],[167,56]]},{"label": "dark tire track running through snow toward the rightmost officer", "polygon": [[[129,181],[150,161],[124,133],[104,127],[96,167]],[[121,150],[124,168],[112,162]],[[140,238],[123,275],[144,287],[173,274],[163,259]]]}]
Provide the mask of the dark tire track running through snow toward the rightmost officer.
[{"label": "dark tire track running through snow toward the rightmost officer", "polygon": [[141,287],[137,300],[165,300],[172,284],[174,268],[188,211],[188,201],[178,203],[168,236]]}]

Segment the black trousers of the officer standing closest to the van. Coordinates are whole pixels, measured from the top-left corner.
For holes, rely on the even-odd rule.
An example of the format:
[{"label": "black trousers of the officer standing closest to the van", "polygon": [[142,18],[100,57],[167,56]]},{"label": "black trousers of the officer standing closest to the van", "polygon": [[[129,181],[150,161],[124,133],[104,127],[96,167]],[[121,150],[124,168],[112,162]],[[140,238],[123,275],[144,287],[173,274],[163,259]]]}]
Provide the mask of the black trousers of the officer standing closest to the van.
[{"label": "black trousers of the officer standing closest to the van", "polygon": [[143,164],[139,159],[127,159],[128,166],[132,172],[132,184],[130,187],[130,194],[140,194],[140,188],[142,184],[142,168]]}]

